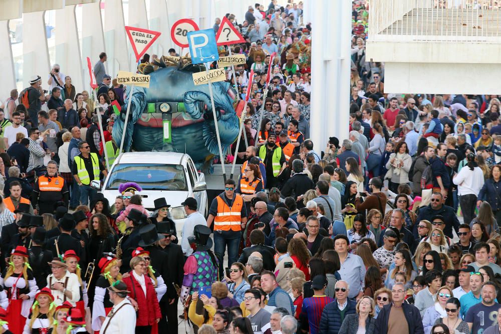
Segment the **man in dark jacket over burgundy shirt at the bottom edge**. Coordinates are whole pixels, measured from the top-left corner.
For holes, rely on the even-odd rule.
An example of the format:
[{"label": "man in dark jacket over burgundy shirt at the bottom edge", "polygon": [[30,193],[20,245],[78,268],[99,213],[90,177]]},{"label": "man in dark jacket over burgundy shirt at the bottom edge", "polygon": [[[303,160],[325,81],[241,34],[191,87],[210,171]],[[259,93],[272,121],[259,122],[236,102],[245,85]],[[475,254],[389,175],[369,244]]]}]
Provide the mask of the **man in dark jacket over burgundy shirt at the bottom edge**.
[{"label": "man in dark jacket over burgundy shirt at the bottom edge", "polygon": [[[405,332],[409,334],[423,334],[423,320],[419,309],[411,304],[404,303],[404,298],[406,294],[405,286],[401,283],[393,285],[391,289],[391,296],[393,302],[384,305],[381,312],[379,312],[376,319],[376,328],[374,330],[375,334],[386,334],[395,332],[395,328],[400,328],[402,325],[407,325],[408,330]],[[399,325],[395,326],[395,323],[390,322],[390,312],[395,312],[392,322],[399,321]],[[405,321],[398,319],[400,315],[405,316]],[[393,330],[391,330],[393,328]]]}]

